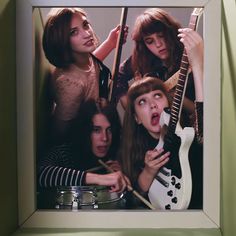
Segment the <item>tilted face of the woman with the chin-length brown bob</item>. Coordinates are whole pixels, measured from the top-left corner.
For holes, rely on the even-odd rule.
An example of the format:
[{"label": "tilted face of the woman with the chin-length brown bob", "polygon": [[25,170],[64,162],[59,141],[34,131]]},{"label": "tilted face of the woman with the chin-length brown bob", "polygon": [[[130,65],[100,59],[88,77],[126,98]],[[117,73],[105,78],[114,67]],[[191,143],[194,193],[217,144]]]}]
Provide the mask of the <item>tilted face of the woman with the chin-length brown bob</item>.
[{"label": "tilted face of the woman with the chin-length brown bob", "polygon": [[74,53],[89,53],[96,48],[93,29],[82,14],[75,13],[72,16],[70,44]]}]

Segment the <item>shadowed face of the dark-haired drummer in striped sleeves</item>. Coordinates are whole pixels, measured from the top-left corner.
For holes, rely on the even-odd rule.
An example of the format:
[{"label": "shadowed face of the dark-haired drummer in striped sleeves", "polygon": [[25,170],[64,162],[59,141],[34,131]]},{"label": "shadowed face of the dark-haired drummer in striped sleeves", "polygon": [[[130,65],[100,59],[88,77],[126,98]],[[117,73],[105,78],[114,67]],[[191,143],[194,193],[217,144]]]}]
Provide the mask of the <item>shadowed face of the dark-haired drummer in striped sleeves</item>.
[{"label": "shadowed face of the dark-haired drummer in striped sleeves", "polygon": [[97,157],[105,157],[112,142],[111,124],[103,114],[96,114],[92,121],[92,152]]}]

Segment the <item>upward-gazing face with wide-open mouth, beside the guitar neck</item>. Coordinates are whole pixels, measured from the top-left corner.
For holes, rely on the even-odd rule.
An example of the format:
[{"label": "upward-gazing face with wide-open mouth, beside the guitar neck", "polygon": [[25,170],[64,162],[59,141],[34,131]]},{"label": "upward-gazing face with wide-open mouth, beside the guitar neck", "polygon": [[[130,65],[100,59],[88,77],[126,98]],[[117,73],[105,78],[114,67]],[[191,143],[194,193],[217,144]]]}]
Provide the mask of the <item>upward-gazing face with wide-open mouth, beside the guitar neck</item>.
[{"label": "upward-gazing face with wide-open mouth, beside the guitar neck", "polygon": [[160,116],[168,105],[167,97],[161,90],[140,95],[134,101],[136,122],[142,124],[153,138],[160,136]]}]

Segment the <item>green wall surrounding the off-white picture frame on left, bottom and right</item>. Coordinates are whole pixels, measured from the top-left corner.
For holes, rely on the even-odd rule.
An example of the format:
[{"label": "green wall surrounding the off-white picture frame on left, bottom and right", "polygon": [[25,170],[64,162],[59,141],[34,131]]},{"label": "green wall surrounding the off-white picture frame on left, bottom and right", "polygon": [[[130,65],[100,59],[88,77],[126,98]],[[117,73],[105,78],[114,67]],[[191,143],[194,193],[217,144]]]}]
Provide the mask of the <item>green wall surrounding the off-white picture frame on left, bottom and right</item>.
[{"label": "green wall surrounding the off-white picture frame on left, bottom and right", "polygon": [[[222,192],[221,229],[185,230],[26,230],[15,235],[206,235],[236,234],[236,31],[235,0],[224,0],[222,9]],[[0,235],[17,229],[15,0],[0,0]],[[214,69],[214,68],[212,68]]]}]

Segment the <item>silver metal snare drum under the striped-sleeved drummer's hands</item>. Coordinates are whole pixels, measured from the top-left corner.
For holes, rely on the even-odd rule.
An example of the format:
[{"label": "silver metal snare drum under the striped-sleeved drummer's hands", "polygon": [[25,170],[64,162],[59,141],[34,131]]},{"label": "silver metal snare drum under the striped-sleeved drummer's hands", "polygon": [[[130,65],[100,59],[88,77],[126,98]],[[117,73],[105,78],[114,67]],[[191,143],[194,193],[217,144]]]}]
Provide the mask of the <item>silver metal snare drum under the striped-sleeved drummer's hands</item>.
[{"label": "silver metal snare drum under the striped-sleeved drummer's hands", "polygon": [[57,187],[56,209],[124,209],[123,194],[109,192],[105,186]]}]

